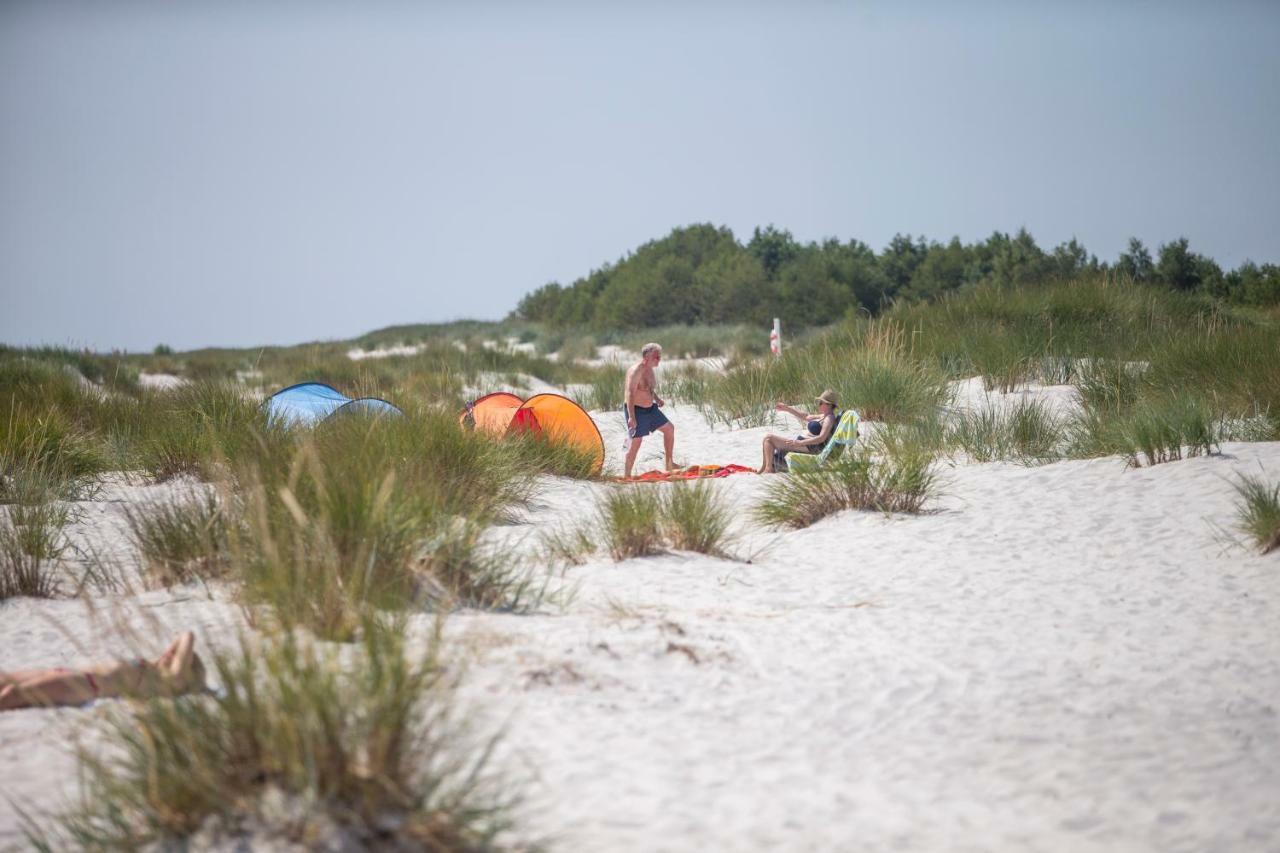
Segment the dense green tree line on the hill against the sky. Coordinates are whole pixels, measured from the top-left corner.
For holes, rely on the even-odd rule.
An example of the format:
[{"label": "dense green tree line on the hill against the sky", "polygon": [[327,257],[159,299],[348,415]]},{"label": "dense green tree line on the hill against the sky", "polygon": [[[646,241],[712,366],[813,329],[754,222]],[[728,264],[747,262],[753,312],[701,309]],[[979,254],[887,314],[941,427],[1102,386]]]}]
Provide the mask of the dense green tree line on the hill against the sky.
[{"label": "dense green tree line on the hill against the sky", "polygon": [[564,287],[525,296],[513,319],[631,329],[672,324],[767,324],[782,316],[813,327],[896,301],[931,300],[979,282],[1027,284],[1112,273],[1243,305],[1280,305],[1280,266],[1247,261],[1224,272],[1187,238],[1151,251],[1134,238],[1114,264],[1074,238],[1046,251],[1020,229],[982,242],[929,242],[897,234],[881,252],[850,240],[797,242],[788,231],[755,228],[745,245],[724,227],[696,224],[640,246]]}]

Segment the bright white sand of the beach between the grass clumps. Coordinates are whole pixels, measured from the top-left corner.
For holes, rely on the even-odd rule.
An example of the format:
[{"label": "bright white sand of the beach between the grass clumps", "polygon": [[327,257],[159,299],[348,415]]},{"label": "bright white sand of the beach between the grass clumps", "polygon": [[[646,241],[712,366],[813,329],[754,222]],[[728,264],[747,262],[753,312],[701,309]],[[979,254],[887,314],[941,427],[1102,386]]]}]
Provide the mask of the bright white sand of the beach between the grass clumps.
[{"label": "bright white sand of the beach between the grass clumps", "polygon": [[[678,461],[758,464],[768,430],[671,416]],[[596,418],[617,470],[621,416]],[[1234,475],[1260,470],[1280,478],[1280,443],[964,465],[934,512],[786,533],[746,525],[771,478],[716,480],[750,564],[598,556],[563,611],[453,616],[462,698],[506,727],[524,824],[566,850],[1280,849],[1280,555],[1222,533]],[[548,478],[494,537],[532,547],[607,488]],[[118,537],[102,506],[83,533]],[[165,624],[156,647],[180,626],[228,644],[239,619],[225,592],[129,602]],[[0,606],[0,669],[119,647],[78,653],[64,629],[88,624],[79,602]],[[5,793],[73,792],[65,735],[102,711],[0,715]]]}]

